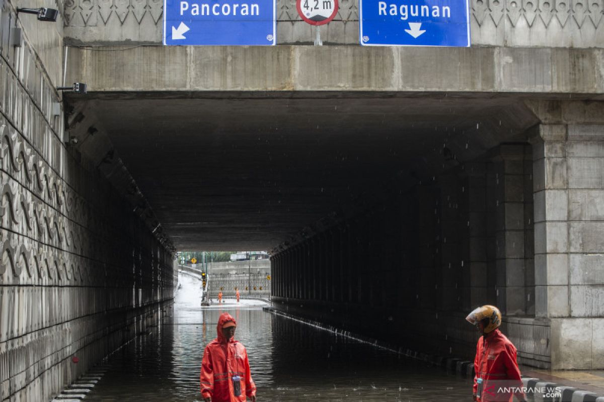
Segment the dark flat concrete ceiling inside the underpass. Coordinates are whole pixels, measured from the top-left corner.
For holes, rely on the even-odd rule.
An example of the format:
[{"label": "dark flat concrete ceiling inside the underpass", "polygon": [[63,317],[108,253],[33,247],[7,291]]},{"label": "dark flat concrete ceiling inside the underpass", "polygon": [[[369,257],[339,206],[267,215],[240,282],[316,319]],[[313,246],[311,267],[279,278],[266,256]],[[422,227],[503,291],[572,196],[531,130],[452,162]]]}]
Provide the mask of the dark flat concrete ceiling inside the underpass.
[{"label": "dark flat concrete ceiling inside the underpass", "polygon": [[318,219],[522,140],[537,123],[511,96],[91,93],[70,102],[86,115],[70,131],[80,151],[98,153],[108,137],[177,250],[271,250]]}]

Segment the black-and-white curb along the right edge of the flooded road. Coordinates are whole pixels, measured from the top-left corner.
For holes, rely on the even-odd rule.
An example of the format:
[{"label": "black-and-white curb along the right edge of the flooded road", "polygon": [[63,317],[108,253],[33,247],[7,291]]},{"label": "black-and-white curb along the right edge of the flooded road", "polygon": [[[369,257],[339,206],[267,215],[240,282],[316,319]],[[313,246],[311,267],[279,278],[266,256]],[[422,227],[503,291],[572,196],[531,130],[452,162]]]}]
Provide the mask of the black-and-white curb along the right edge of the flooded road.
[{"label": "black-and-white curb along the right edge of the flooded road", "polygon": [[[422,360],[424,362],[431,363],[434,366],[441,366],[448,371],[455,371],[457,374],[461,374],[463,377],[474,377],[474,362],[468,360],[459,359],[457,357],[444,357],[434,354],[423,353],[411,349],[397,348],[386,342],[378,341],[377,339],[369,338],[360,334],[351,333],[350,331],[342,330],[341,328],[332,327],[331,325],[325,325],[322,322],[313,321],[311,319],[302,318],[297,315],[283,312],[282,310],[276,309],[275,307],[262,307],[262,310],[280,315],[294,321],[303,322],[304,324],[312,325],[313,327],[333,331],[336,334],[347,336],[348,338],[355,339],[359,342],[371,344],[382,349],[390,350],[394,353],[402,354],[411,359]],[[522,385],[534,391],[535,388],[544,388],[546,392],[527,392],[528,395],[535,399],[535,402],[604,402],[604,395],[597,395],[595,392],[583,391],[557,383],[547,382],[540,380],[539,378],[522,377]],[[560,389],[562,397],[545,397],[545,395]]]}]

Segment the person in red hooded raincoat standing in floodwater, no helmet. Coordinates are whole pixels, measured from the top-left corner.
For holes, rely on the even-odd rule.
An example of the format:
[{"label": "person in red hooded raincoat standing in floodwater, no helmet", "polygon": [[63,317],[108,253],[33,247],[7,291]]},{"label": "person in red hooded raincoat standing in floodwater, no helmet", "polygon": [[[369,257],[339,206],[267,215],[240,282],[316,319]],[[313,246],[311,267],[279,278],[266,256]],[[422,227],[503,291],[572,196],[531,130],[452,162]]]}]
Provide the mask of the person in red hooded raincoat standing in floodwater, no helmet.
[{"label": "person in red hooded raincoat standing in floodwater, no helmet", "polygon": [[256,386],[249,371],[248,353],[233,336],[235,319],[222,313],[216,330],[218,338],[205,347],[201,364],[201,395],[205,402],[256,400]]}]

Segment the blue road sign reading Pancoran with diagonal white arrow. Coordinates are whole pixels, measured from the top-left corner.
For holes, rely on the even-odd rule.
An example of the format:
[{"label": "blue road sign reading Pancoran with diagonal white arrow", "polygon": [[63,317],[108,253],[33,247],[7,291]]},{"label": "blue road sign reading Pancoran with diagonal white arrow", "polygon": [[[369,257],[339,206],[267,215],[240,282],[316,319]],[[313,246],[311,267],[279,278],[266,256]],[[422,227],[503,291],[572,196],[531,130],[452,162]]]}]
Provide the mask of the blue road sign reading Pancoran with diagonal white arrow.
[{"label": "blue road sign reading Pancoran with diagonal white arrow", "polygon": [[275,45],[275,0],[164,0],[164,45]]}]

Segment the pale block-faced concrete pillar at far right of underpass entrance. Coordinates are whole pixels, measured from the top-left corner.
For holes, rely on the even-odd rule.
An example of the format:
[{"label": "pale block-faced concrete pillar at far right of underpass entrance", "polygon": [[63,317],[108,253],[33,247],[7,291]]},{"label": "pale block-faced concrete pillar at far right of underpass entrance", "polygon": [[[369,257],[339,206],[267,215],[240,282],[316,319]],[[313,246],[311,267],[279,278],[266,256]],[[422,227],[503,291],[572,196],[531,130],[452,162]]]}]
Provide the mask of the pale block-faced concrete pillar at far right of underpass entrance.
[{"label": "pale block-faced concrete pillar at far right of underpass entrance", "polygon": [[602,369],[604,125],[542,124],[534,142],[535,309],[551,321],[551,366]]}]

